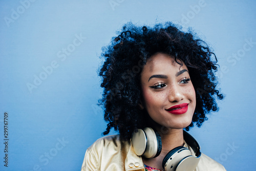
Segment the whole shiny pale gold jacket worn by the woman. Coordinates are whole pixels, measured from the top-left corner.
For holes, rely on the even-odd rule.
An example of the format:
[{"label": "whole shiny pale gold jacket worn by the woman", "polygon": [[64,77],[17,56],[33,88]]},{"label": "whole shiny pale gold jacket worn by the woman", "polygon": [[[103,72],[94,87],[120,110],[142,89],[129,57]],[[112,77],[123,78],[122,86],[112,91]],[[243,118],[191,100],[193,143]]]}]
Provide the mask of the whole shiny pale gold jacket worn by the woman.
[{"label": "whole shiny pale gold jacket worn by the woman", "polygon": [[[193,149],[186,143],[191,154],[195,156]],[[102,170],[145,170],[142,158],[134,152],[132,142],[120,141],[119,135],[106,136],[95,141],[86,151],[81,171]],[[202,154],[195,171],[226,171],[215,160]]]}]

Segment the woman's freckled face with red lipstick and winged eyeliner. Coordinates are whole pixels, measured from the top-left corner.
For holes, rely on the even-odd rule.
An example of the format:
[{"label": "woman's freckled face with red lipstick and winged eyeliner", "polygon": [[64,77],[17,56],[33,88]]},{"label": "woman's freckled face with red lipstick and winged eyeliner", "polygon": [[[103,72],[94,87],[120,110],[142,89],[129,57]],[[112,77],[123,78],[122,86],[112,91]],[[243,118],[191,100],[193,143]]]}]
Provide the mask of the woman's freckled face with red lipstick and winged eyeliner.
[{"label": "woman's freckled face with red lipstick and winged eyeliner", "polygon": [[174,58],[157,53],[141,72],[140,107],[160,126],[183,129],[191,123],[196,108],[196,93],[187,67]]}]

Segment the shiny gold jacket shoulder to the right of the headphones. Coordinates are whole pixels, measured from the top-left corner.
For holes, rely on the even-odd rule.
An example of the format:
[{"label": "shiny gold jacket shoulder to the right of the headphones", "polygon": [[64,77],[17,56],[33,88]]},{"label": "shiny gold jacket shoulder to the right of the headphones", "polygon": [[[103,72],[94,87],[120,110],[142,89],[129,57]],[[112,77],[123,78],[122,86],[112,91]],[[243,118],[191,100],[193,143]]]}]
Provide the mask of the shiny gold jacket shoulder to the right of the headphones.
[{"label": "shiny gold jacket shoulder to the right of the headphones", "polygon": [[226,171],[226,169],[222,164],[202,153],[197,171]]}]

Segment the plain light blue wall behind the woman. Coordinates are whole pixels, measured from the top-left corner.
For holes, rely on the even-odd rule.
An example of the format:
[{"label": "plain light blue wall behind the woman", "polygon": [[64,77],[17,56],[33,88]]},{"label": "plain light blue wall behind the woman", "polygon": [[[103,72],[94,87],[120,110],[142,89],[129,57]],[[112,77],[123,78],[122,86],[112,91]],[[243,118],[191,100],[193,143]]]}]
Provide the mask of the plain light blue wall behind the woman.
[{"label": "plain light blue wall behind the woman", "polygon": [[80,170],[106,127],[96,105],[101,47],[130,21],[172,21],[209,42],[225,99],[190,133],[227,170],[255,170],[255,17],[255,1],[0,1],[0,170]]}]

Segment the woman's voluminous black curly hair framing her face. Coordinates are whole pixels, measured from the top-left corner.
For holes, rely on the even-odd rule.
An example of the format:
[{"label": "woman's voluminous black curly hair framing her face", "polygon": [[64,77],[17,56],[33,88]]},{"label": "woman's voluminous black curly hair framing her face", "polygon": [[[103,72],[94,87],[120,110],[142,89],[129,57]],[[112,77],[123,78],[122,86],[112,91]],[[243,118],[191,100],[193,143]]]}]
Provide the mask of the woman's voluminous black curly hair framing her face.
[{"label": "woman's voluminous black curly hair framing her face", "polygon": [[216,88],[217,58],[203,40],[170,22],[154,27],[127,23],[117,34],[101,54],[105,60],[99,72],[103,77],[99,104],[104,105],[104,120],[108,122],[103,135],[113,127],[129,140],[134,131],[146,126],[148,115],[138,107],[142,96],[140,74],[147,59],[158,52],[174,57],[177,63],[183,61],[193,80],[197,103],[187,131],[194,123],[200,127],[207,120],[206,114],[218,110],[216,100],[223,95]]}]

